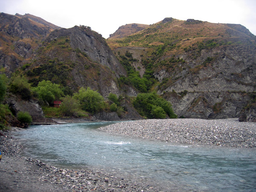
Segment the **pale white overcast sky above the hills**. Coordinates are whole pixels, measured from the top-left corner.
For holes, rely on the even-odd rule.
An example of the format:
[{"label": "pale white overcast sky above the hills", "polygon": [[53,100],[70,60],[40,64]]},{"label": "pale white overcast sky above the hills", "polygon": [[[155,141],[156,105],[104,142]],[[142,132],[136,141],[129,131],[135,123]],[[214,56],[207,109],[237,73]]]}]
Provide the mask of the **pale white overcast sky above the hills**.
[{"label": "pale white overcast sky above the hills", "polygon": [[0,0],[0,12],[29,13],[64,28],[90,26],[104,38],[119,26],[165,17],[236,23],[256,35],[256,0]]}]

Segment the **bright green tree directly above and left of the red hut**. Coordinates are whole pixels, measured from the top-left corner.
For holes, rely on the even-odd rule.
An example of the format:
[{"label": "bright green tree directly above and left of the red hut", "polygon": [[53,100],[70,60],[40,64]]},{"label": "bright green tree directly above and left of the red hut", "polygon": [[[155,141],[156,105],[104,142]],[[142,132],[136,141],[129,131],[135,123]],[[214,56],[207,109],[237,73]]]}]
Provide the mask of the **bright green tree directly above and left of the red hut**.
[{"label": "bright green tree directly above and left of the red hut", "polygon": [[42,99],[44,102],[48,102],[49,104],[52,104],[54,100],[58,100],[64,95],[59,84],[45,80],[39,82],[38,86],[32,88],[32,90],[38,93],[39,99]]}]

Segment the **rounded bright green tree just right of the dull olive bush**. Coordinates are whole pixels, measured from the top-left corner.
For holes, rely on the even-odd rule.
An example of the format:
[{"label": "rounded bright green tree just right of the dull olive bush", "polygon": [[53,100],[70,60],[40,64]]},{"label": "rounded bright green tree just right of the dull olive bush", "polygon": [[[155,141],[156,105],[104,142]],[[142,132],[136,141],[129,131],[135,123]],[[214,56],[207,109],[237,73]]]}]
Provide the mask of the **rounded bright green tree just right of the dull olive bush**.
[{"label": "rounded bright green tree just right of the dull olive bush", "polygon": [[97,113],[105,106],[104,98],[90,87],[81,87],[79,93],[74,94],[74,98],[79,100],[82,110],[90,113]]}]

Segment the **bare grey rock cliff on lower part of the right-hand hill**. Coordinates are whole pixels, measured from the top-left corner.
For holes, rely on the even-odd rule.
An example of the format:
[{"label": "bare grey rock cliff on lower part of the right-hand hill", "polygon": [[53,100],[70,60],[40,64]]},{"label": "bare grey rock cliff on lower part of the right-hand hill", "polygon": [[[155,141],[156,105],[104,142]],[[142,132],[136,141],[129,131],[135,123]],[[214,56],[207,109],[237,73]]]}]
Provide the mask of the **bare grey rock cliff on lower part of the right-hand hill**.
[{"label": "bare grey rock cliff on lower part of the right-hand hill", "polygon": [[188,54],[177,55],[185,61],[182,70],[175,74],[160,69],[155,73],[160,81],[168,78],[158,93],[172,102],[180,116],[239,117],[247,104],[247,93],[256,90],[255,52],[255,47],[228,46],[202,50],[195,60]]}]

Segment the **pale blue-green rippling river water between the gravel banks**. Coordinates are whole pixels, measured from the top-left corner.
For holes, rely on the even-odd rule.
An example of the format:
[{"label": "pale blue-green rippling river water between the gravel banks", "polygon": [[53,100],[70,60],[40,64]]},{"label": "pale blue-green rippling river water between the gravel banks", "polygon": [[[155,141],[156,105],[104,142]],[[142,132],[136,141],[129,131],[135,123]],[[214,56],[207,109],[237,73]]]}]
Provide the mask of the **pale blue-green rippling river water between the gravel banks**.
[{"label": "pale blue-green rippling river water between the gravel banks", "polygon": [[111,123],[32,126],[16,137],[24,155],[55,166],[95,167],[188,190],[256,190],[255,149],[178,145],[96,129]]}]

